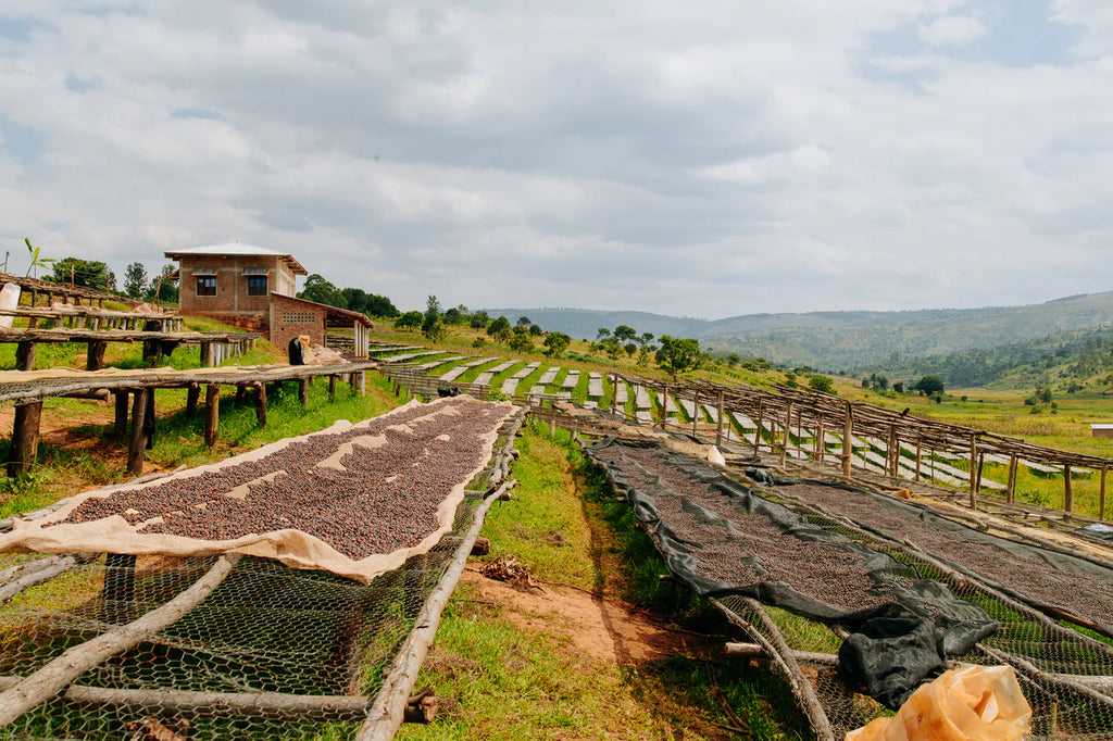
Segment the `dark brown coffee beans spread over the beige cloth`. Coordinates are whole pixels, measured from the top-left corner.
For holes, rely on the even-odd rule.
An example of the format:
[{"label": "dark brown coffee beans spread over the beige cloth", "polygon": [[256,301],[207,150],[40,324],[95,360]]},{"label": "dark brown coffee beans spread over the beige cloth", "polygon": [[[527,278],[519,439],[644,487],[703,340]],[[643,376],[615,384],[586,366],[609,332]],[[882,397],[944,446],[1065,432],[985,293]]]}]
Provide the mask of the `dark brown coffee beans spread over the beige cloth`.
[{"label": "dark brown coffee beans spread over the beige cloth", "polygon": [[[206,541],[297,530],[353,560],[391,553],[440,527],[441,503],[490,458],[491,434],[512,412],[469,396],[417,406],[342,433],[309,435],[257,461],[90,498],[63,522],[120,515],[141,533]],[[356,443],[339,461],[344,471],[317,465],[368,435],[386,444]],[[246,497],[227,495],[244,484]],[[161,522],[149,522],[156,517]]]}]

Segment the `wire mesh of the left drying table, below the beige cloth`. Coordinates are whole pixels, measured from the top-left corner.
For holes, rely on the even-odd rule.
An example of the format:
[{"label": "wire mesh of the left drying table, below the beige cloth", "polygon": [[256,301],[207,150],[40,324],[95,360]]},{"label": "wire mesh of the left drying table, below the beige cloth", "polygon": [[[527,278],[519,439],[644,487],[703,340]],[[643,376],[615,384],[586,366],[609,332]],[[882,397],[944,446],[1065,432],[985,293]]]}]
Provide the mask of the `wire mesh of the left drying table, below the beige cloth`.
[{"label": "wire mesh of the left drying table, below the beige cloth", "polygon": [[[461,504],[441,545],[367,585],[245,557],[183,619],[86,672],[60,696],[0,730],[0,738],[352,738],[365,712],[359,703],[299,720],[297,712],[280,710],[293,704],[288,698],[276,698],[275,707],[244,709],[229,705],[226,695],[373,696],[476,503]],[[0,682],[10,685],[67,649],[158,607],[214,562],[140,556],[132,566],[128,559],[100,556],[6,605]],[[2,565],[12,561],[4,556]],[[137,692],[144,690],[161,694]],[[166,732],[178,735],[159,735]]]}]

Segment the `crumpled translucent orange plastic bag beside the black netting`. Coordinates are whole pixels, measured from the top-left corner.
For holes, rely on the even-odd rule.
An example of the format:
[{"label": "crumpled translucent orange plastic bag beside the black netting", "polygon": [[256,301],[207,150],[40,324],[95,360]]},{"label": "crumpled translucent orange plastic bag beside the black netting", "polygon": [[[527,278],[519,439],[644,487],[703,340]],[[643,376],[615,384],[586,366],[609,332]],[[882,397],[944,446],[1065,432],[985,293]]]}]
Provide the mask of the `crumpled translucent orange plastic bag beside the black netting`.
[{"label": "crumpled translucent orange plastic bag beside the black netting", "polygon": [[912,693],[893,718],[850,731],[846,741],[1016,741],[1032,725],[1012,666],[944,672]]}]

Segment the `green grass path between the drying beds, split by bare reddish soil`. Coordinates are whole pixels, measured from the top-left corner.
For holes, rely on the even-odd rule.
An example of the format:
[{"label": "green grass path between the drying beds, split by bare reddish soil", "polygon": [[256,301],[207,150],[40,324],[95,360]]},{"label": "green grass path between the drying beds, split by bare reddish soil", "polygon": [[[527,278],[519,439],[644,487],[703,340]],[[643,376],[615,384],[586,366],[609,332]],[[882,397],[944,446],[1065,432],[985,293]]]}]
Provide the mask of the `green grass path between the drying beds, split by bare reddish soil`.
[{"label": "green grass path between the drying beds, split by bare reddish soil", "polygon": [[[629,504],[574,448],[532,425],[519,438],[518,501],[498,504],[483,534],[490,557],[513,554],[542,582],[560,582],[712,633],[721,615],[672,582],[649,539],[633,530]],[[709,656],[717,640],[693,640],[687,654],[603,665],[570,646],[560,631],[523,628],[500,605],[462,585],[443,616],[418,686],[442,698],[432,725],[405,725],[400,739],[726,739],[737,738],[725,696],[746,738],[804,739],[787,686],[764,670]],[[709,672],[710,669],[710,672]]]}]

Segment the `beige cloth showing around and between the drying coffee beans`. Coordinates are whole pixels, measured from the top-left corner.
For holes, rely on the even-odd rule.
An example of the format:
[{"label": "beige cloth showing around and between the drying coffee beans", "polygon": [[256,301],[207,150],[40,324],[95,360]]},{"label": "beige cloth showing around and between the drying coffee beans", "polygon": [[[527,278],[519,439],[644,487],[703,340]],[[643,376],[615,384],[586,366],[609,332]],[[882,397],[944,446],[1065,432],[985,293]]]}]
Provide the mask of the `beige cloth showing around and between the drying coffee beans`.
[{"label": "beige cloth showing around and between the drying coffee beans", "polygon": [[[471,397],[456,397],[457,399],[471,399]],[[474,468],[466,476],[463,476],[442,500],[437,512],[436,530],[430,533],[421,543],[413,547],[401,549],[392,553],[383,553],[367,556],[354,561],[348,556],[337,552],[321,539],[297,530],[279,530],[267,533],[249,534],[235,540],[207,541],[180,535],[169,535],[165,533],[144,533],[142,523],[131,524],[120,515],[112,515],[101,520],[83,523],[67,523],[51,525],[66,520],[73,510],[91,497],[108,498],[121,492],[131,492],[165,484],[174,478],[191,478],[204,476],[207,473],[219,471],[227,466],[236,466],[248,461],[257,461],[275,451],[278,451],[294,442],[306,439],[315,435],[329,433],[341,433],[346,431],[358,431],[368,427],[373,422],[388,421],[391,416],[402,414],[414,407],[424,407],[427,412],[423,419],[435,419],[440,415],[459,416],[461,413],[454,408],[454,399],[436,399],[430,404],[422,405],[418,402],[410,402],[386,415],[365,419],[356,425],[351,422],[341,421],[331,427],[312,435],[292,437],[265,445],[252,453],[238,455],[219,463],[197,468],[190,468],[170,477],[144,484],[118,486],[111,490],[96,490],[75,496],[67,505],[50,515],[35,522],[17,520],[10,533],[0,535],[0,552],[7,551],[35,551],[40,553],[131,553],[151,555],[174,555],[174,556],[205,556],[219,553],[244,553],[248,555],[276,559],[288,566],[295,569],[323,569],[343,576],[358,580],[363,583],[371,582],[375,576],[397,569],[412,555],[427,552],[441,540],[441,537],[452,530],[455,518],[456,507],[464,498],[464,487],[483,468],[486,467],[491,457],[494,442],[498,438],[498,428],[501,421],[505,419],[513,412],[513,405],[509,403],[490,403],[492,406],[504,407],[504,414],[498,422],[492,423],[493,427],[481,435],[482,449],[485,455],[480,456]],[[395,431],[413,431],[413,422],[408,424],[391,425],[387,428]],[[371,431],[368,431],[371,432]],[[436,447],[444,445],[445,449],[450,444],[447,435],[430,436],[423,438],[430,455],[437,455]],[[355,436],[349,442],[339,445],[333,455],[318,461],[316,466],[329,466],[342,468],[337,465],[341,453],[357,451],[363,448],[368,455],[374,455],[376,446],[385,444],[382,431],[365,436]],[[264,477],[265,478],[265,477]],[[258,480],[256,480],[258,481]],[[228,492],[225,496],[240,498],[246,494],[246,486],[240,485]],[[213,495],[209,495],[213,496]],[[217,494],[216,496],[219,496]],[[157,518],[156,518],[157,520]],[[148,521],[149,522],[149,521]]]}]

